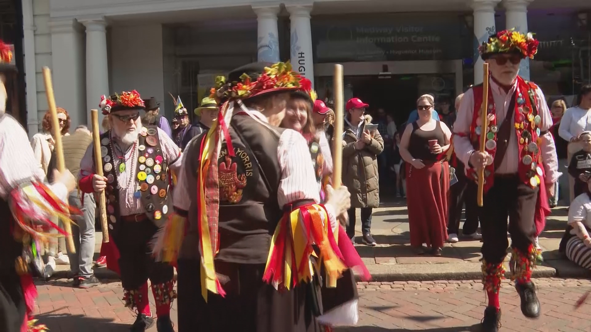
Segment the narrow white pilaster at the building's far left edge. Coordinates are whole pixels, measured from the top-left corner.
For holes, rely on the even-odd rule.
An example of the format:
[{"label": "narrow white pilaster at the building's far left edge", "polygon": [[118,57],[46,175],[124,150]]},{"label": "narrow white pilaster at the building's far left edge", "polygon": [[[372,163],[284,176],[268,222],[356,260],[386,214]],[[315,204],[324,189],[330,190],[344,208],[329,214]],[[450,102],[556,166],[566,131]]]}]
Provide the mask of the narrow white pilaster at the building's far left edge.
[{"label": "narrow white pilaster at the building's far left edge", "polygon": [[33,0],[22,1],[22,30],[24,32],[22,42],[25,53],[25,84],[27,84],[27,132],[29,138],[32,138],[39,131]]}]

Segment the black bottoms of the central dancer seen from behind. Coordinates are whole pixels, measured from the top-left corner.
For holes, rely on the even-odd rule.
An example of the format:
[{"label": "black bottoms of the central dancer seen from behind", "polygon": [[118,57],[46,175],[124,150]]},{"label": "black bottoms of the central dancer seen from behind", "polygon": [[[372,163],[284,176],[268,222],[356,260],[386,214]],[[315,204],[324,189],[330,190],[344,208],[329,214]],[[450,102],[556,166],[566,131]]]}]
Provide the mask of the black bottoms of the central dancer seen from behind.
[{"label": "black bottoms of the central dancer seen from behind", "polygon": [[320,332],[306,287],[278,292],[262,281],[264,269],[264,264],[216,261],[216,272],[230,279],[222,285],[226,297],[210,292],[205,302],[199,261],[179,259],[178,332]]}]

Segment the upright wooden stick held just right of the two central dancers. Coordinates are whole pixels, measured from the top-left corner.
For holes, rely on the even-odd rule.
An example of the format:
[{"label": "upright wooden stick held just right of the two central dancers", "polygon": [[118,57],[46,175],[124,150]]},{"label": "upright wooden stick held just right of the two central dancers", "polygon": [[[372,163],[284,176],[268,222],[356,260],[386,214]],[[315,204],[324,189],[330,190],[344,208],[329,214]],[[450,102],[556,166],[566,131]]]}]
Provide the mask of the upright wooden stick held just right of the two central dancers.
[{"label": "upright wooden stick held just right of the two central dancers", "polygon": [[333,96],[335,97],[335,132],[333,135],[333,188],[340,187],[343,183],[343,121],[345,100],[343,93],[343,65],[335,64],[335,77],[333,79]]}]

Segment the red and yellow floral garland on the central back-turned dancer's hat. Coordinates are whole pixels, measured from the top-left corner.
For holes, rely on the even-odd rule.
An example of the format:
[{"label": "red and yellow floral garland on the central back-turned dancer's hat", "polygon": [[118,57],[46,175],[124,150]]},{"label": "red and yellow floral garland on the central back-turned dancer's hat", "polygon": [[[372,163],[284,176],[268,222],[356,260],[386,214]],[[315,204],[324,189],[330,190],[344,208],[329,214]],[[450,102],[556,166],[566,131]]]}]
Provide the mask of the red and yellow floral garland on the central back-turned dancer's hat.
[{"label": "red and yellow floral garland on the central back-turned dancer's hat", "polygon": [[240,80],[241,82],[226,82],[226,77],[217,76],[210,97],[216,100],[248,99],[269,90],[303,89],[309,91],[312,87],[309,79],[293,71],[289,61],[265,67],[264,72],[255,81],[252,81],[248,74],[242,74]]}]

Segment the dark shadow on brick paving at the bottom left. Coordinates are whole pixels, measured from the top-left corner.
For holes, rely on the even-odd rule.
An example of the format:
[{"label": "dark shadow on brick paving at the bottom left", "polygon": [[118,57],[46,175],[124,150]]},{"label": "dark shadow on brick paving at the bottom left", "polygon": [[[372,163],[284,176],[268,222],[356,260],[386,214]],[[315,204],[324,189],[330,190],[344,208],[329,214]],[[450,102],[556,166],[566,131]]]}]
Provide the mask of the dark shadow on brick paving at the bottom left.
[{"label": "dark shadow on brick paving at the bottom left", "polygon": [[92,318],[85,315],[40,314],[37,324],[46,324],[49,331],[128,332],[129,324],[113,323],[111,318]]}]

